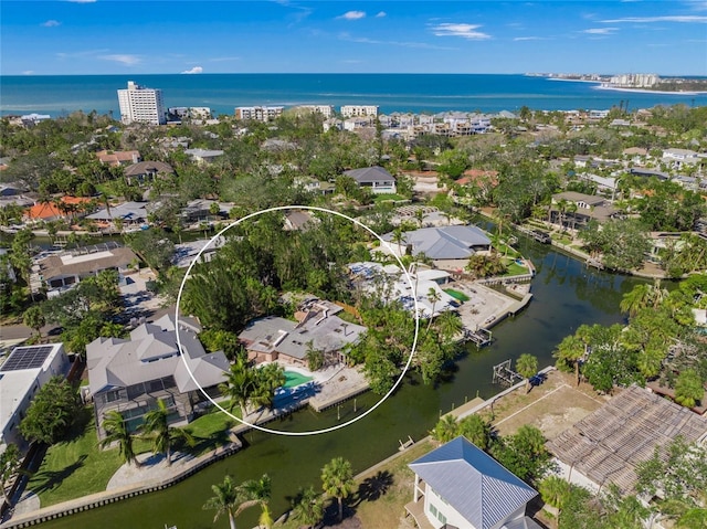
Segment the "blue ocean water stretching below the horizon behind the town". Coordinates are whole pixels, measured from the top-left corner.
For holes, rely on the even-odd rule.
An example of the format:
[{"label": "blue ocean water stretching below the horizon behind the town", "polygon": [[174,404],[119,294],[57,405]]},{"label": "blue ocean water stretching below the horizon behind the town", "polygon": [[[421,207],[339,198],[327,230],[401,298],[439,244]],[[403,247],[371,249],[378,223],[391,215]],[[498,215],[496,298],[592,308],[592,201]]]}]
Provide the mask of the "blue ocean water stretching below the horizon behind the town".
[{"label": "blue ocean water stretching below the horizon behind the town", "polygon": [[525,75],[486,74],[200,74],[0,76],[0,114],[74,110],[119,116],[116,91],[128,81],[161,88],[170,106],[207,106],[215,115],[236,106],[300,104],[379,105],[380,112],[444,110],[497,113],[532,109],[605,109],[684,103],[707,105],[707,94],[619,92],[594,83]]}]

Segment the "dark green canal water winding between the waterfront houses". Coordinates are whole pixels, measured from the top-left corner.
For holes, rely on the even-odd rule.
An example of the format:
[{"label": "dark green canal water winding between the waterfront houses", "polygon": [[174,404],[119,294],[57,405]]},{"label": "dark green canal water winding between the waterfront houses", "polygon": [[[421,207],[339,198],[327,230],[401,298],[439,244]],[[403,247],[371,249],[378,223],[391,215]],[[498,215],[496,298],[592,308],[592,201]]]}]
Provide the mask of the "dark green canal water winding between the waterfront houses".
[{"label": "dark green canal water winding between the waterfront houses", "polygon": [[[331,433],[309,437],[251,432],[247,446],[240,453],[205,468],[189,479],[166,490],[139,496],[118,504],[43,523],[52,529],[102,528],[178,529],[228,527],[228,519],[213,523],[214,511],[202,509],[212,496],[211,485],[226,474],[236,483],[272,477],[273,515],[278,517],[291,505],[300,487],[320,488],[320,468],[333,457],[349,459],[355,473],[397,453],[399,441],[419,440],[434,426],[442,413],[476,395],[488,398],[500,390],[492,383],[492,368],[524,352],[535,355],[540,367],[553,363],[552,350],[567,335],[582,324],[609,325],[622,320],[619,303],[639,279],[587,268],[551,246],[526,237],[520,251],[536,265],[532,281],[534,298],[519,315],[493,329],[493,345],[477,350],[471,346],[456,362],[447,380],[432,388],[408,377],[404,385],[387,402],[355,424]],[[275,430],[318,430],[336,421],[348,421],[369,409],[373,395],[361,395],[324,414],[303,410],[271,423]],[[356,406],[356,412],[354,408]],[[294,426],[294,423],[297,426]],[[239,517],[240,527],[256,523],[258,508]]]}]

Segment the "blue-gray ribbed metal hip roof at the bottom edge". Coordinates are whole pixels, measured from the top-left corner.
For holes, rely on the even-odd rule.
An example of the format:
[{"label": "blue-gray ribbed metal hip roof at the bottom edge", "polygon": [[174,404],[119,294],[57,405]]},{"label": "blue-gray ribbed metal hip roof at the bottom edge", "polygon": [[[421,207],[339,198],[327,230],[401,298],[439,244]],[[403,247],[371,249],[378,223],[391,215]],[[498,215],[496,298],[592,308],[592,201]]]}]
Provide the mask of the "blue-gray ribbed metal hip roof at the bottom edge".
[{"label": "blue-gray ribbed metal hip roof at the bottom edge", "polygon": [[538,494],[462,436],[409,466],[477,529],[494,527]]}]

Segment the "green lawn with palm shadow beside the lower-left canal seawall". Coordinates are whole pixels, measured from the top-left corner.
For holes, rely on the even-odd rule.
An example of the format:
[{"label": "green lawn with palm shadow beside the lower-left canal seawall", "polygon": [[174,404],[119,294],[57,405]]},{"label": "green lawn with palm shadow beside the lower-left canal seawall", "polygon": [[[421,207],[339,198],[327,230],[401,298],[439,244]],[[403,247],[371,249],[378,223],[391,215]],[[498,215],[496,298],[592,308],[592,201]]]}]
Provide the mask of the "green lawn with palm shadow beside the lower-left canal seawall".
[{"label": "green lawn with palm shadow beside the lower-left canal seawall", "polygon": [[42,466],[30,478],[28,489],[40,496],[42,507],[105,490],[122,465],[117,448],[98,447],[93,408],[86,408],[84,413],[84,426],[72,440],[51,446]]}]

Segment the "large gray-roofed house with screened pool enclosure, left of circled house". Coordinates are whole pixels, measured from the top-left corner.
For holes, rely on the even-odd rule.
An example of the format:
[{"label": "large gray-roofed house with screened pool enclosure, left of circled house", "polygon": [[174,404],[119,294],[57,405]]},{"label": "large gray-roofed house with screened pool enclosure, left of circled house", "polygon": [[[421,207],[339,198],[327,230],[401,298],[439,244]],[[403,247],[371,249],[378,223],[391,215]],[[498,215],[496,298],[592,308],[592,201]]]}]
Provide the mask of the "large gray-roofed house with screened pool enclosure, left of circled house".
[{"label": "large gray-roofed house with screened pool enclosure, left of circled house", "polygon": [[112,410],[135,430],[162,400],[170,411],[169,422],[182,423],[193,417],[205,399],[199,385],[212,396],[218,394],[229,361],[222,351],[204,350],[197,336],[200,331],[192,318],[180,318],[177,328],[175,316],[165,315],[135,328],[129,339],[101,337],[86,346],[88,388],[99,438],[105,435],[104,416]]}]

